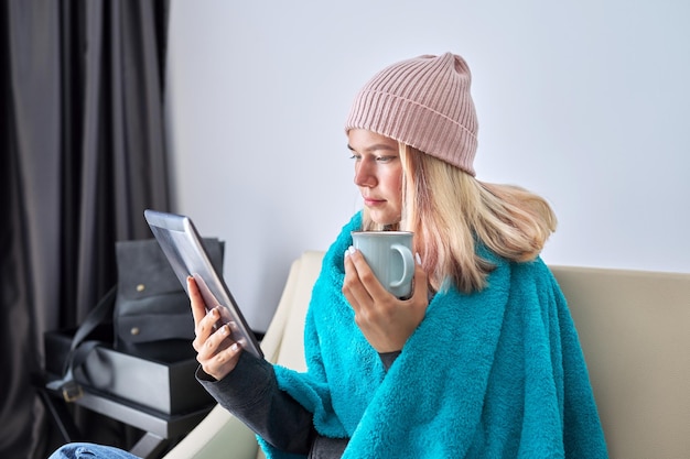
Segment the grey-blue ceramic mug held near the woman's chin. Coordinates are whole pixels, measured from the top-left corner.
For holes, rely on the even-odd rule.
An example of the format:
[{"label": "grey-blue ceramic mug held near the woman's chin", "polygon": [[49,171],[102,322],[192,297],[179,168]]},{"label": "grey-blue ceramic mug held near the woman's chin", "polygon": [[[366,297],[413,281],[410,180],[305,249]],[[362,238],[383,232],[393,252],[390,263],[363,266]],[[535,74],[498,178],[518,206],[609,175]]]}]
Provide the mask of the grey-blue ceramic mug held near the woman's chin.
[{"label": "grey-blue ceramic mug held near the woman's chin", "polygon": [[381,285],[398,298],[412,292],[414,256],[409,231],[353,231],[353,247],[362,252]]}]

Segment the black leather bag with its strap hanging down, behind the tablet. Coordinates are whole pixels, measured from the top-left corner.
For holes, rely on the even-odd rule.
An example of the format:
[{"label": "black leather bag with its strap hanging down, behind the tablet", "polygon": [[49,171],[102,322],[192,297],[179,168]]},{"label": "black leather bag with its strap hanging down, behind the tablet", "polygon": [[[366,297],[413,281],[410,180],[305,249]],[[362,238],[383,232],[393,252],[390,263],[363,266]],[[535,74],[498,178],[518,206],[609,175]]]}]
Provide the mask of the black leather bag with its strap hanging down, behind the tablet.
[{"label": "black leather bag with its strap hanging down, behind the tablet", "polygon": [[[204,248],[218,273],[225,244],[204,238]],[[63,378],[47,384],[66,401],[82,395],[74,371],[97,346],[112,346],[131,356],[177,362],[195,356],[194,317],[190,299],[155,239],[116,242],[118,282],[104,295],[76,330],[65,359]],[[114,342],[87,340],[103,324],[111,323]]]}]

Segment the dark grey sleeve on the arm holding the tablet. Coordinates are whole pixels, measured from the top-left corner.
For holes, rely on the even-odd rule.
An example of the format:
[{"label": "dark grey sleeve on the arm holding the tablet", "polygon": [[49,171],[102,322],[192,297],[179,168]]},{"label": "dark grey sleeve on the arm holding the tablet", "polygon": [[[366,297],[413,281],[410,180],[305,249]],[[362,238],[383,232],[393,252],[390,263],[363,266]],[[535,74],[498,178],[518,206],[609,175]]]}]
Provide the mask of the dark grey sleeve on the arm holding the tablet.
[{"label": "dark grey sleeve on the arm holding the tablet", "polygon": [[242,352],[237,367],[216,381],[201,367],[196,379],[227,411],[273,447],[306,455],[314,440],[313,414],[278,389],[273,365]]}]

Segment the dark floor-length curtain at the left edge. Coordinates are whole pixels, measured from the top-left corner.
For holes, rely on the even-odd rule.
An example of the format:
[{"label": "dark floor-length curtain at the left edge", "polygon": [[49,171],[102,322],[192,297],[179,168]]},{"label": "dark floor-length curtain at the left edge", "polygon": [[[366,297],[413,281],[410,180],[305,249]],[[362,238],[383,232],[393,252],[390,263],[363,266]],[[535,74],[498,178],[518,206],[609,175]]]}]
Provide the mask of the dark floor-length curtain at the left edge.
[{"label": "dark floor-length curtain at the left edge", "polygon": [[0,457],[45,458],[43,332],[116,282],[115,241],[169,210],[169,0],[0,1]]}]

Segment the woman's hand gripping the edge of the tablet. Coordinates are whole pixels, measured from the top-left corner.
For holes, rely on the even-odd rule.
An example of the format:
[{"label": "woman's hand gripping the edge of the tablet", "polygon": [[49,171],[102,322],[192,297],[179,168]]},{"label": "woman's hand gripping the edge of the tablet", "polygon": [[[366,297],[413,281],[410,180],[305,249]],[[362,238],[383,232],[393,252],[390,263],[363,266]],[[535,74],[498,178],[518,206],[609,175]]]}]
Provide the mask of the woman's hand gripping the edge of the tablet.
[{"label": "woman's hand gripping the edge of the tablet", "polygon": [[222,380],[237,365],[242,347],[233,340],[228,324],[216,328],[222,306],[206,313],[206,304],[192,276],[187,277],[187,291],[194,316],[196,338],[192,346],[196,350],[196,360],[206,374]]}]

